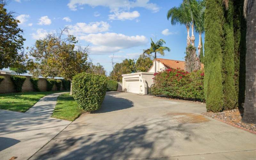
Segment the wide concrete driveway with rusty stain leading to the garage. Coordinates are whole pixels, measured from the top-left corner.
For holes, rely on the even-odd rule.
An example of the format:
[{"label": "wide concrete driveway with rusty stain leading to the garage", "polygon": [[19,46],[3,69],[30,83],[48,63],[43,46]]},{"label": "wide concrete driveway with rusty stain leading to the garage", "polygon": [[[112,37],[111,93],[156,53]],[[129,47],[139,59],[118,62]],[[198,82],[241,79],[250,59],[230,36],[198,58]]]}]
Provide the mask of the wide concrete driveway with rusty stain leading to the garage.
[{"label": "wide concrete driveway with rusty stain leading to the garage", "polygon": [[256,159],[256,135],[201,115],[205,105],[108,92],[31,159]]}]

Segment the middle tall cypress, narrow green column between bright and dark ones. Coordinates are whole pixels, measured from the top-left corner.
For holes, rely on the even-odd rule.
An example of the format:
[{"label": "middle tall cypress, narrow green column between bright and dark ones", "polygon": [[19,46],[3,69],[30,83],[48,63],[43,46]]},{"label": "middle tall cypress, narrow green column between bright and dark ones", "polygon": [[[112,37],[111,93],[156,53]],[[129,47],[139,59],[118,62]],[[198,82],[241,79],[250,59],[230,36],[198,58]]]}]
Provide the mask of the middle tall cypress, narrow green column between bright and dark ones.
[{"label": "middle tall cypress, narrow green column between bright and dark ones", "polygon": [[224,103],[223,109],[233,109],[236,107],[236,91],[234,80],[234,30],[233,30],[233,15],[234,7],[233,0],[229,0],[228,9],[224,10],[223,24],[223,63],[222,63],[222,78],[223,78],[223,93]]}]

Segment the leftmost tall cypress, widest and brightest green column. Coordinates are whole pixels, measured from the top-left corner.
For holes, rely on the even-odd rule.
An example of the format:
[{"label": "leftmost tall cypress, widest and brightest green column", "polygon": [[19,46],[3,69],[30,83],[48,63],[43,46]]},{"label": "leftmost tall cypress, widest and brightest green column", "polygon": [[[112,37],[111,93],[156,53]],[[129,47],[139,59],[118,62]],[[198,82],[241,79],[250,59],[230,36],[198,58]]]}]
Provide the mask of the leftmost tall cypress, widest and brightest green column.
[{"label": "leftmost tall cypress, widest and brightest green column", "polygon": [[204,42],[204,92],[207,111],[218,112],[223,109],[222,78],[222,0],[207,0],[205,5]]}]

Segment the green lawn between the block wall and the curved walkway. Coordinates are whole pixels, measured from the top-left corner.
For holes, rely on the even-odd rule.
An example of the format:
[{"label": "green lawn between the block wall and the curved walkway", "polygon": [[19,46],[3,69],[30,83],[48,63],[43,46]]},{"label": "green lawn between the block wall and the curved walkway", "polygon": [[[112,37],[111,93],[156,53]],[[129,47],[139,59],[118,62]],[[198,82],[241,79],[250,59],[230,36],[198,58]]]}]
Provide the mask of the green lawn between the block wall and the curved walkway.
[{"label": "green lawn between the block wall and the curved walkway", "polygon": [[65,91],[3,93],[0,94],[0,109],[26,112],[42,97],[56,92]]}]

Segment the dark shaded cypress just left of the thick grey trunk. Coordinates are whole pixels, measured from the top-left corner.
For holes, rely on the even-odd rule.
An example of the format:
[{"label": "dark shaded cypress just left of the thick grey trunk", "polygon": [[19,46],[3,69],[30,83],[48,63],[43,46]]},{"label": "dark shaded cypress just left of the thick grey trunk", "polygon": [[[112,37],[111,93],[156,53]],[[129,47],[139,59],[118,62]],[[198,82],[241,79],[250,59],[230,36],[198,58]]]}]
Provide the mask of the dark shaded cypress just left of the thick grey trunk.
[{"label": "dark shaded cypress just left of the thick grey trunk", "polygon": [[236,107],[244,103],[245,92],[245,54],[246,54],[246,20],[243,16],[244,0],[234,1],[234,48],[235,48],[235,88]]}]

